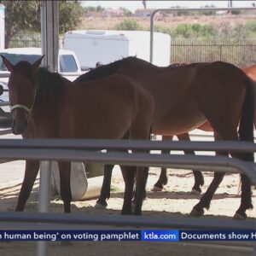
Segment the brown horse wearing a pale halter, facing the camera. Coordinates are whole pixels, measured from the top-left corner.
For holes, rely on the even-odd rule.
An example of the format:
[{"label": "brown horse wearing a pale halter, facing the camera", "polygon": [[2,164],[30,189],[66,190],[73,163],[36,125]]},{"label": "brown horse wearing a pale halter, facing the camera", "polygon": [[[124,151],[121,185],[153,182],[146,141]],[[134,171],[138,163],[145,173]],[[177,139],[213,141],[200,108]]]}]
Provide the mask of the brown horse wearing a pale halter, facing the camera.
[{"label": "brown horse wearing a pale halter, facing the camera", "polygon": [[[154,99],[143,86],[119,74],[76,84],[39,67],[41,61],[20,61],[13,66],[3,57],[10,71],[9,99],[15,134],[75,139],[114,139],[129,134],[133,139],[149,139]],[[71,212],[70,162],[58,164],[64,211]],[[38,161],[26,160],[17,211],[25,207],[38,167]],[[148,168],[139,168],[136,172],[136,167],[121,167],[125,179],[122,214],[131,214],[135,173],[138,193],[133,214],[141,214]]]}]

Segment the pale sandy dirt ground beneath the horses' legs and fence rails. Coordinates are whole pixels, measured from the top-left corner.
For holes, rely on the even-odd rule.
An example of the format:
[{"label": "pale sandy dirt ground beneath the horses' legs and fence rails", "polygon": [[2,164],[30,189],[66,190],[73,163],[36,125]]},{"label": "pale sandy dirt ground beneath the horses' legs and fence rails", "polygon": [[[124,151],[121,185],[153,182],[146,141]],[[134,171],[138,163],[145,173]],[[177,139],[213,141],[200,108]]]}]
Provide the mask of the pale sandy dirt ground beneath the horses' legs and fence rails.
[{"label": "pale sandy dirt ground beneath the horses' legs and fence rails", "polygon": [[[84,214],[115,214],[118,218],[123,203],[124,183],[122,177],[116,167],[113,175],[113,185],[111,198],[108,200],[108,208],[105,210],[95,208],[96,199],[89,201],[76,201],[72,204],[72,212]],[[170,170],[168,173],[169,181],[166,188],[162,192],[151,192],[154,183],[157,180],[160,169],[151,169],[148,177],[148,198],[143,204],[144,216],[168,217],[178,216],[189,218],[188,214],[195,203],[200,199],[201,195],[191,195],[194,177],[191,172],[185,170]],[[204,172],[205,185],[203,192],[206,191],[212,180],[211,172]],[[17,196],[20,191],[20,184],[13,184],[9,188],[0,189],[0,211],[14,211]],[[239,196],[239,176],[237,174],[227,175],[224,177],[223,183],[212,200],[209,211],[203,218],[232,218],[233,214],[240,203]],[[35,212],[38,206],[38,182],[35,184],[32,196],[30,197],[26,211]],[[256,205],[256,190],[253,190],[253,205]],[[63,212],[61,201],[53,200],[50,204],[50,212]],[[256,208],[247,211],[250,219],[255,219]],[[256,220],[256,219],[255,219]],[[36,255],[35,242],[2,242],[0,243],[1,256],[32,256]],[[233,248],[234,249],[234,248]],[[230,247],[212,247],[208,245],[196,246],[195,243],[188,245],[186,243],[175,242],[115,242],[115,241],[87,241],[72,242],[71,245],[63,245],[60,242],[49,243],[49,256],[57,255],[234,255],[238,256],[243,253],[244,256],[253,255],[253,250],[247,247],[240,250],[230,250]]]}]

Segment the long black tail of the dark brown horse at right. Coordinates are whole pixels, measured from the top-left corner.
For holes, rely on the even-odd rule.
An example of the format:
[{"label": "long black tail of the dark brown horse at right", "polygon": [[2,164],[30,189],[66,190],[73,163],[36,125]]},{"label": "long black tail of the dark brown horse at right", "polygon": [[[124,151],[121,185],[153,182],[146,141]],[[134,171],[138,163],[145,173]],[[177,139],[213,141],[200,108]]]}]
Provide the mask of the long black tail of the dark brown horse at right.
[{"label": "long black tail of the dark brown horse at right", "polygon": [[[253,81],[249,78],[245,81],[246,95],[241,109],[241,119],[238,129],[240,141],[253,142],[253,115],[254,115],[254,88]],[[254,161],[253,153],[242,154],[242,159]]]}]

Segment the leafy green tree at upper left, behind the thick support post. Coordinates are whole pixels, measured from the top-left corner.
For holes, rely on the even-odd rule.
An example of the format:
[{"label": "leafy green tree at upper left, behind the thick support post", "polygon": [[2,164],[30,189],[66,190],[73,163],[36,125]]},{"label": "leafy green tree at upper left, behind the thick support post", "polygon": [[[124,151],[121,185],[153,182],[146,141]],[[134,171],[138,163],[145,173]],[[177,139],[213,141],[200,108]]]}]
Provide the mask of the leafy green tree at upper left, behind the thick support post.
[{"label": "leafy green tree at upper left, behind the thick support post", "polygon": [[[2,1],[5,6],[5,46],[10,39],[23,31],[40,31],[40,1]],[[72,30],[79,25],[84,10],[79,1],[59,1],[60,32]]]}]

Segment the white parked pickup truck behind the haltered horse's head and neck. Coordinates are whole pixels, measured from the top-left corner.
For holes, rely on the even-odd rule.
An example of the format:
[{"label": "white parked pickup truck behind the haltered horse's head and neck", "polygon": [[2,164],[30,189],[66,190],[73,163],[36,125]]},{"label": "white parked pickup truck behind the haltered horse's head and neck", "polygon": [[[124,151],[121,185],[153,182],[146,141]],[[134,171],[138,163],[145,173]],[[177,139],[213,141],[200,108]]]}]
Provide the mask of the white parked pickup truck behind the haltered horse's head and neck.
[{"label": "white parked pickup truck behind the haltered horse's head and neck", "polygon": [[[37,61],[41,55],[41,48],[9,48],[0,50],[0,55],[5,56],[12,64],[19,61],[29,61],[33,63]],[[79,60],[75,53],[71,50],[59,50],[58,73],[71,81],[82,74]],[[0,57],[0,81],[8,83],[9,71],[3,65]]]}]

